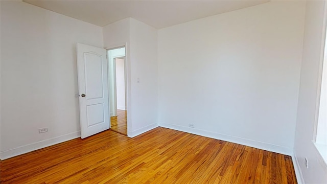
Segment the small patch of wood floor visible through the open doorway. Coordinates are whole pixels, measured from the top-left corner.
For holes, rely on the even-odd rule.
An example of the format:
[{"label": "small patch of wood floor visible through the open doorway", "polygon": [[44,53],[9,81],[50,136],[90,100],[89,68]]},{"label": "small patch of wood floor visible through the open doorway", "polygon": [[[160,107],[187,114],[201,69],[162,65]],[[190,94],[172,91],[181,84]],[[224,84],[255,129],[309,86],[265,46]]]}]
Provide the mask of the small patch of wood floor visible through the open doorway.
[{"label": "small patch of wood floor visible through the open doorway", "polygon": [[127,135],[127,117],[126,110],[117,109],[117,116],[110,117],[111,130]]}]

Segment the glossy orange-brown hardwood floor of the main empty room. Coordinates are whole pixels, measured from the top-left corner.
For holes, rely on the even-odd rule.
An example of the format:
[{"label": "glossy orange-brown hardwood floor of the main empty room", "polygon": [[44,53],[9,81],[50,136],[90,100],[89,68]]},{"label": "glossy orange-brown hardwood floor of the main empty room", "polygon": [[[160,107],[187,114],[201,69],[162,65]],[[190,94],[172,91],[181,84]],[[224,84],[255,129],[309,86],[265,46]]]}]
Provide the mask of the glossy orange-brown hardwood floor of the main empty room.
[{"label": "glossy orange-brown hardwood floor of the main empty room", "polygon": [[290,156],[166,128],[104,131],[2,161],[2,183],[296,183]]}]

